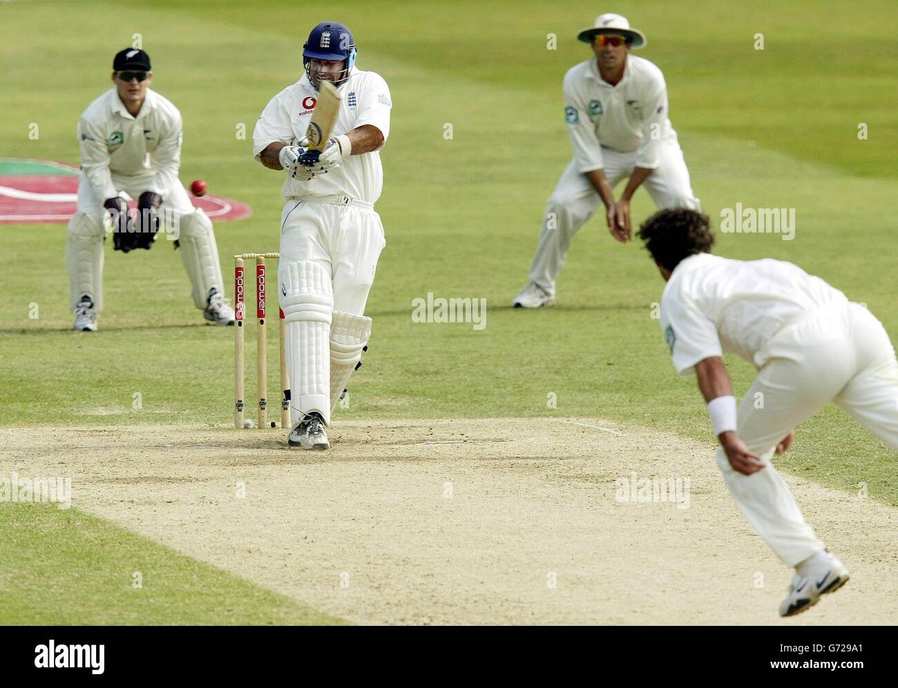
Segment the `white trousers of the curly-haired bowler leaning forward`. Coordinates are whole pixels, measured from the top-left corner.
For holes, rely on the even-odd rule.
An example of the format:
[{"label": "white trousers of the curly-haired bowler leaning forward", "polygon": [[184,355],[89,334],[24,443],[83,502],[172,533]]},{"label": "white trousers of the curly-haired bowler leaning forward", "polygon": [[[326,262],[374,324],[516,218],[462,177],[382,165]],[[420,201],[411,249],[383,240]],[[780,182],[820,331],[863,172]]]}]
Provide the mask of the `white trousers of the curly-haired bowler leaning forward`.
[{"label": "white trousers of the curly-haired bowler leaning forward", "polygon": [[[831,401],[898,451],[898,361],[885,327],[857,303],[808,313],[774,335],[763,353],[767,361],[739,405],[737,432],[767,466],[742,475],[721,448],[718,466],[745,518],[796,566],[823,543],[770,458],[788,431]],[[788,452],[779,460],[788,466]]]}]

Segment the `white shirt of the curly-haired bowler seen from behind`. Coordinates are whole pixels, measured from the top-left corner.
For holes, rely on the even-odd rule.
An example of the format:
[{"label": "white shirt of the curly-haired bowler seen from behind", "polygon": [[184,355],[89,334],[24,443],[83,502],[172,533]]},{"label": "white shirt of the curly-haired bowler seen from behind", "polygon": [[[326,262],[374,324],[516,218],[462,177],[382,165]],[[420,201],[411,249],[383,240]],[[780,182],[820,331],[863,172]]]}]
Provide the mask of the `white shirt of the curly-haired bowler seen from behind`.
[{"label": "white shirt of the curly-haired bowler seen from behind", "polygon": [[683,376],[724,352],[761,368],[764,344],[780,329],[809,311],[847,302],[838,289],[791,263],[700,253],[674,268],[661,298],[661,328]]}]

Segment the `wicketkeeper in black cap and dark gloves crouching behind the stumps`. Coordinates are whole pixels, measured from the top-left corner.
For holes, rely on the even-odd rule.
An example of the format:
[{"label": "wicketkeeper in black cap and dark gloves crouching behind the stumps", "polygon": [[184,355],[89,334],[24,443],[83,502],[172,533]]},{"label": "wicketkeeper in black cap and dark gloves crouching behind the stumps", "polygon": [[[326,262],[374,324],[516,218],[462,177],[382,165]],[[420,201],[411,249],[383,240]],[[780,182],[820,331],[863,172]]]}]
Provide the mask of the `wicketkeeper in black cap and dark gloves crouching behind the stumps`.
[{"label": "wicketkeeper in black cap and dark gloves crouching behind the stumps", "polygon": [[[152,71],[143,50],[120,51],[112,69],[115,88],[94,100],[78,124],[81,181],[66,250],[75,329],[97,328],[107,231],[115,250],[149,249],[160,215],[169,231],[177,230],[174,246],[180,248],[197,308],[211,322],[233,325],[212,222],[190,203],[178,179],[180,112],[148,88]],[[138,201],[133,222],[126,195]]]}]

